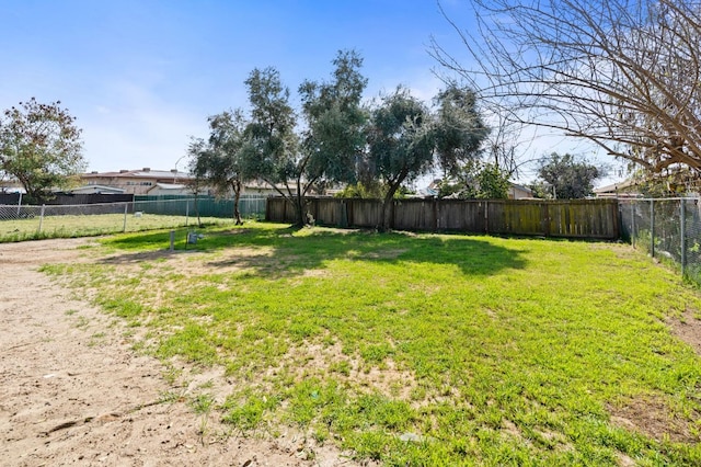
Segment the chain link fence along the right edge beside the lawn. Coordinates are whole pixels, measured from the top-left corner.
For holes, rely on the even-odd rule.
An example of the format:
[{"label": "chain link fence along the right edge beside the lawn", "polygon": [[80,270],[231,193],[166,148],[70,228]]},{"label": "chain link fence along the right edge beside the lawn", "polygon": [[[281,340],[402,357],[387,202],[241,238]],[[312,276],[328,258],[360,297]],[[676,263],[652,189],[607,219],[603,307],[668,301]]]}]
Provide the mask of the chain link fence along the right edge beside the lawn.
[{"label": "chain link fence along the right edge beside the lawn", "polygon": [[619,210],[624,240],[701,284],[701,198],[619,200]]}]

